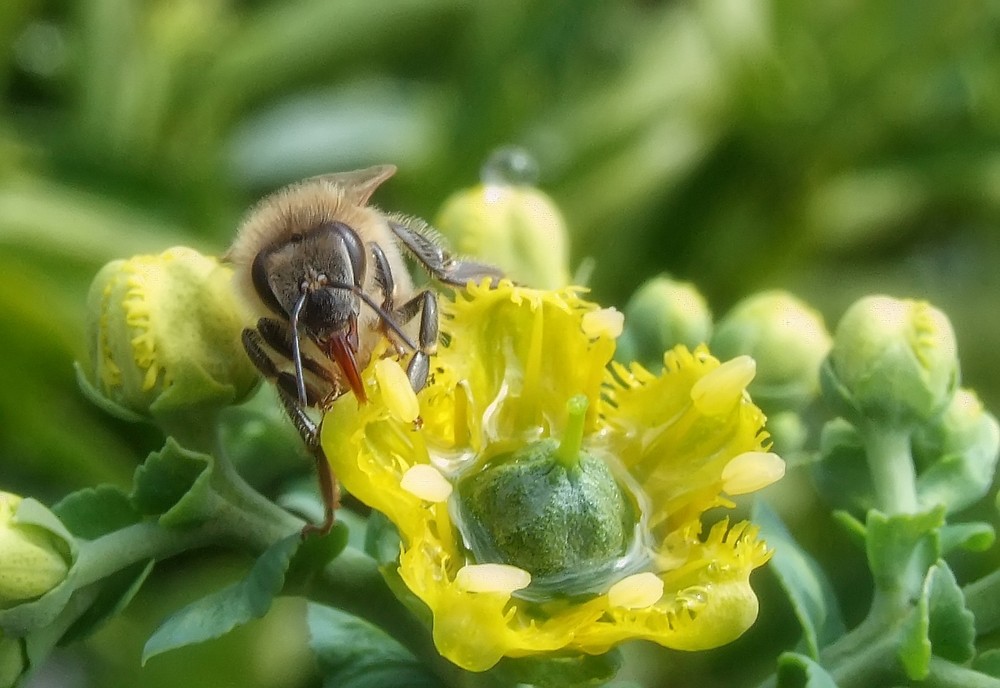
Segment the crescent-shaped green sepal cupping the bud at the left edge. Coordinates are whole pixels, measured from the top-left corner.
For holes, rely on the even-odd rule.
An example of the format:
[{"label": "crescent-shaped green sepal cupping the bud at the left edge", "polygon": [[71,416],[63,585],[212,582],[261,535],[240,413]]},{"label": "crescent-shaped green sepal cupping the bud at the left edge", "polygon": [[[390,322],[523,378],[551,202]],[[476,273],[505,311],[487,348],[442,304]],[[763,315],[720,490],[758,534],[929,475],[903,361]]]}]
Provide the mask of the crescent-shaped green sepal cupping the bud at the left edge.
[{"label": "crescent-shaped green sepal cupping the bud at the left edge", "polygon": [[41,597],[22,602],[8,609],[0,609],[0,630],[14,636],[49,626],[65,609],[76,584],[76,562],[79,551],[76,538],[44,504],[27,497],[17,507],[12,523],[34,526],[50,533],[65,547],[64,556],[69,562],[69,570],[61,583]]}]

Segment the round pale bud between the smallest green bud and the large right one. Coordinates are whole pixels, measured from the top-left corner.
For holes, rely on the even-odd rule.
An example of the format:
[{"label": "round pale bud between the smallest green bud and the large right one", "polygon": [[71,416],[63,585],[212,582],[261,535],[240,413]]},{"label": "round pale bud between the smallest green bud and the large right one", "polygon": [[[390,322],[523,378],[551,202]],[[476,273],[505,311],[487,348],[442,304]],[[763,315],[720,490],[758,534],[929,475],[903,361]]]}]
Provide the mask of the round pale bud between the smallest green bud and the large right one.
[{"label": "round pale bud between the smallest green bud and the large right one", "polygon": [[754,294],[716,325],[710,345],[723,360],[757,361],[750,394],[768,413],[799,409],[819,393],[819,369],[830,351],[823,317],[783,291]]}]

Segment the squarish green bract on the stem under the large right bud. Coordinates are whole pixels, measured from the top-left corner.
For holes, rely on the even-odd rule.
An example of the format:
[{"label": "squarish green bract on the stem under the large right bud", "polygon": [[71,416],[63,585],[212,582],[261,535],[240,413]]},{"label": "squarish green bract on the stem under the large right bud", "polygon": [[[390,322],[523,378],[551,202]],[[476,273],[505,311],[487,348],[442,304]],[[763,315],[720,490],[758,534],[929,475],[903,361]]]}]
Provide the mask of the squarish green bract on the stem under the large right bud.
[{"label": "squarish green bract on the stem under the large right bud", "polygon": [[917,599],[930,567],[941,556],[944,507],[918,514],[868,512],[868,565],[876,590]]}]

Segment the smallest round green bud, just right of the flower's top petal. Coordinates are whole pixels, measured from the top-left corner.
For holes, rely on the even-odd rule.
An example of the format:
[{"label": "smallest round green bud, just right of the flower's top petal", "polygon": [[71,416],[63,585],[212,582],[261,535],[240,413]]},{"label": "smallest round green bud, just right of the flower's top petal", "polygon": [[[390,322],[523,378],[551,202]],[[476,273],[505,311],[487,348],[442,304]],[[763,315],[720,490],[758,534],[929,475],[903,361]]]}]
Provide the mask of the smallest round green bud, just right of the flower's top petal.
[{"label": "smallest round green bud, just right of the flower's top petal", "polygon": [[693,349],[711,334],[712,313],[694,285],[659,275],[640,286],[625,306],[625,331],[615,358],[658,369],[664,351],[678,344]]}]

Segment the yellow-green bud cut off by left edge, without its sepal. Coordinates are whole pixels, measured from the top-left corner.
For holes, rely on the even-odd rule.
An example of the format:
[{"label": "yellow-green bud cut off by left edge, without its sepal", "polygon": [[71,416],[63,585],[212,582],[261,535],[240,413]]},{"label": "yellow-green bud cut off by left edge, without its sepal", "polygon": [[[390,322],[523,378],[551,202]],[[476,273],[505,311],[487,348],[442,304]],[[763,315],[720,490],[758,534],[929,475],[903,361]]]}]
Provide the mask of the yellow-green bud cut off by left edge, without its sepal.
[{"label": "yellow-green bud cut off by left edge, without its sepal", "polygon": [[69,572],[66,543],[16,519],[21,498],[0,492],[0,609],[41,597]]}]

